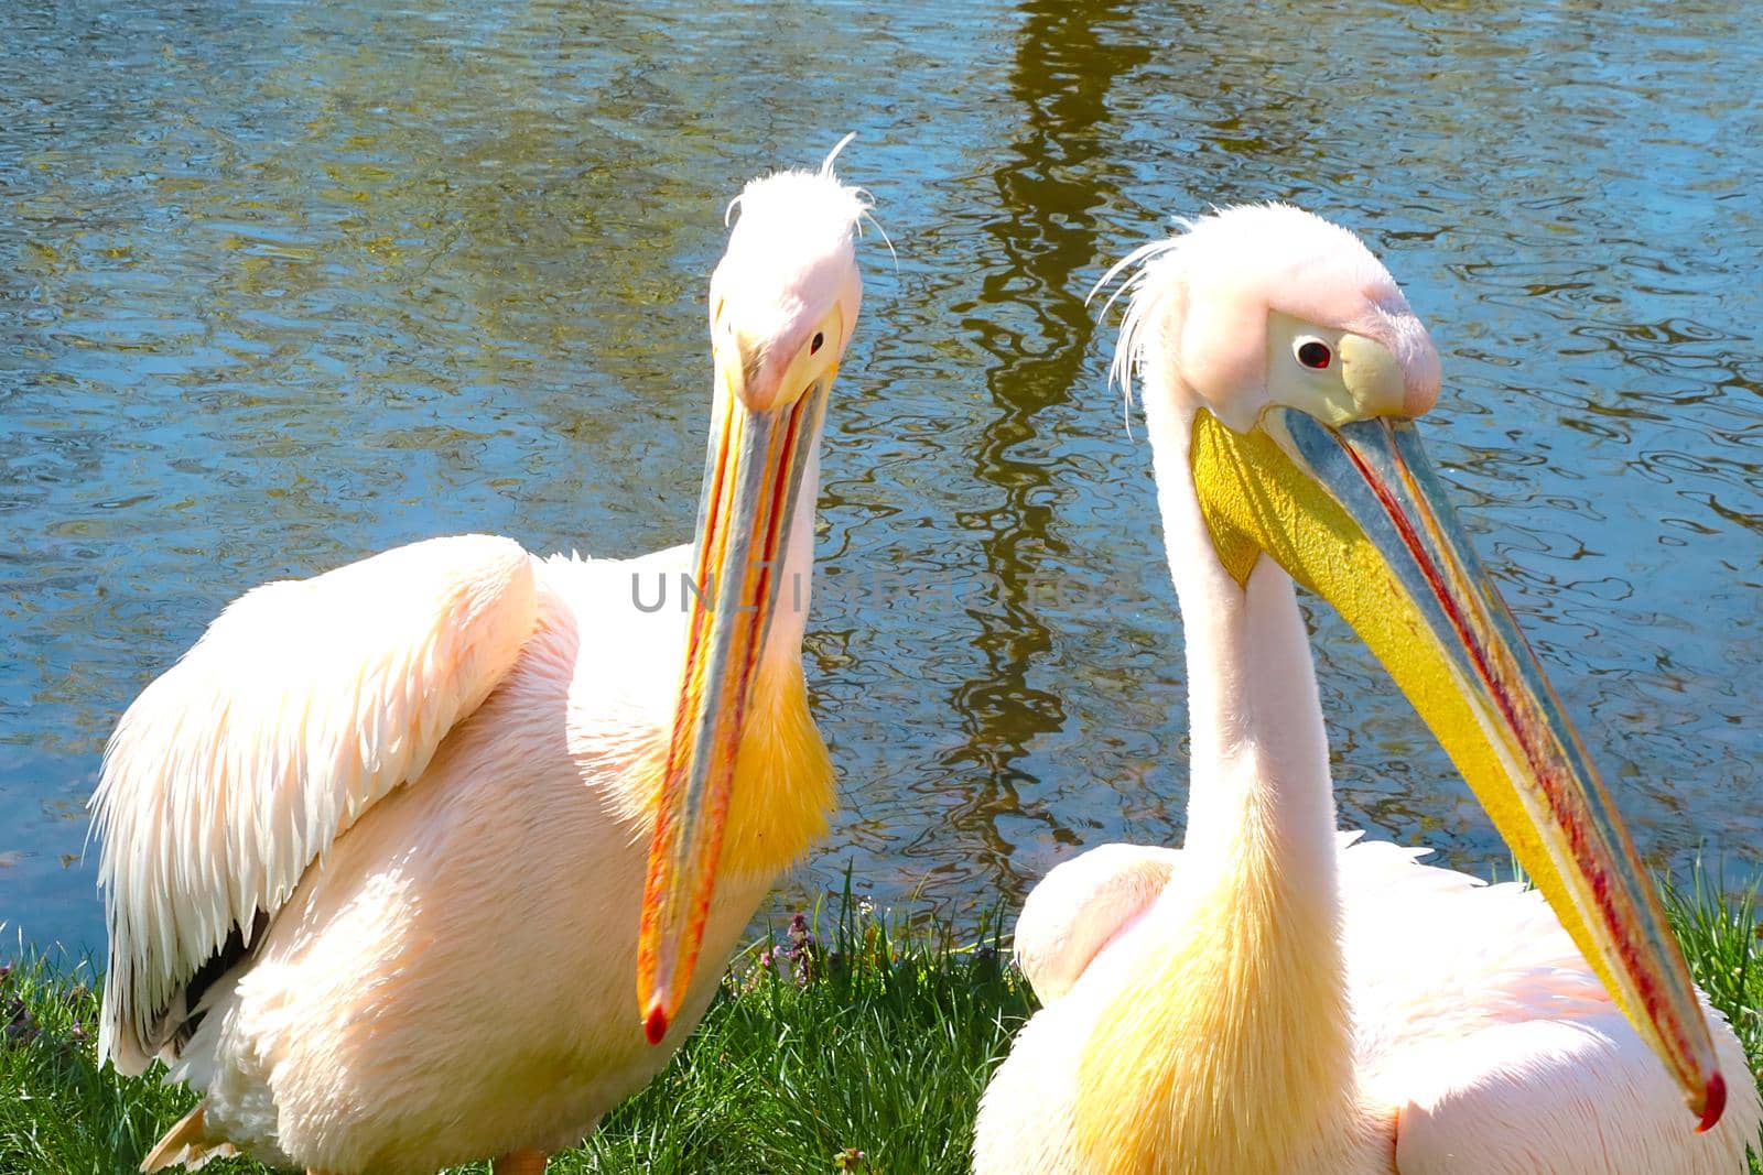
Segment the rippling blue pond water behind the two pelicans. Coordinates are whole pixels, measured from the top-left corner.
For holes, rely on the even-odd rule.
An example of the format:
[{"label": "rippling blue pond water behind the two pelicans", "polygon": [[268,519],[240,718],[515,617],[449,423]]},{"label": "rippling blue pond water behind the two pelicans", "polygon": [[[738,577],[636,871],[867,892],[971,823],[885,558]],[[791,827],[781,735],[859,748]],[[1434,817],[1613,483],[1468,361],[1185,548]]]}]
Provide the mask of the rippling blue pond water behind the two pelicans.
[{"label": "rippling blue pond water behind the two pelicans", "polygon": [[[1749,5],[703,7],[0,12],[7,937],[102,944],[104,738],[245,588],[434,534],[689,537],[723,204],[846,130],[897,262],[862,248],[823,449],[843,807],[781,905],[850,865],[970,918],[1082,846],[1179,842],[1181,624],[1084,294],[1172,215],[1268,197],[1363,233],[1432,326],[1432,453],[1643,851],[1756,874]],[[1343,824],[1504,867],[1312,622]]]}]

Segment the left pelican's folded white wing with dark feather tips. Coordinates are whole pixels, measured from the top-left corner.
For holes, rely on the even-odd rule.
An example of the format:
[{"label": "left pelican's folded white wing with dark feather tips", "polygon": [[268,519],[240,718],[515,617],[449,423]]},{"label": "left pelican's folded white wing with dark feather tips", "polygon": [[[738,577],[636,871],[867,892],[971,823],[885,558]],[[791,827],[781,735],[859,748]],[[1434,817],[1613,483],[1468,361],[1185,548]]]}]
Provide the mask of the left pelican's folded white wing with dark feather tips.
[{"label": "left pelican's folded white wing with dark feather tips", "polygon": [[136,698],[92,798],[100,1055],[139,1071],[178,1046],[201,990],[344,830],[421,775],[536,618],[517,543],[430,539],[245,594]]}]

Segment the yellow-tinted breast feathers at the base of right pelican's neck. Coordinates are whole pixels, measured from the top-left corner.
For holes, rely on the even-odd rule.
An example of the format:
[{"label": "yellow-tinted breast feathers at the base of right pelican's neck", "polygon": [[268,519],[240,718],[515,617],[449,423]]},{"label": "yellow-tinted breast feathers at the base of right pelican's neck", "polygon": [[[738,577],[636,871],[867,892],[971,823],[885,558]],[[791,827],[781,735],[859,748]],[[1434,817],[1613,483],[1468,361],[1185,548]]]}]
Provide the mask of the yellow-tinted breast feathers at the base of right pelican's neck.
[{"label": "yellow-tinted breast feathers at the base of right pelican's neck", "polygon": [[1165,932],[1142,935],[1148,950],[1084,1046],[1074,1108],[1084,1170],[1303,1171],[1350,1145],[1333,890],[1306,891],[1264,830],[1250,794],[1234,844],[1185,853],[1195,856],[1183,879],[1206,888],[1153,911]]}]

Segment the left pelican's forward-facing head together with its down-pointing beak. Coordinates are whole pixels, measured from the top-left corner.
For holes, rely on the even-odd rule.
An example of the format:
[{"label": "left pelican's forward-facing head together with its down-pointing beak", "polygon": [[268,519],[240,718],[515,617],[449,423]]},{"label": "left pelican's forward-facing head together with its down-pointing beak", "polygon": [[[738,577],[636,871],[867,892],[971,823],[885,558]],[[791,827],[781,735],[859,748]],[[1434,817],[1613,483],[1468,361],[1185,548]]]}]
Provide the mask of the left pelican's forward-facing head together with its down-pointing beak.
[{"label": "left pelican's forward-facing head together with its down-pointing beak", "polygon": [[698,594],[638,935],[636,994],[651,1043],[679,1013],[698,958],[742,731],[749,708],[763,705],[753,687],[785,557],[813,541],[804,472],[816,469],[827,393],[862,303],[853,245],[869,203],[832,174],[844,143],[818,171],[748,183],[730,204],[735,225],[710,278],[714,381]]}]

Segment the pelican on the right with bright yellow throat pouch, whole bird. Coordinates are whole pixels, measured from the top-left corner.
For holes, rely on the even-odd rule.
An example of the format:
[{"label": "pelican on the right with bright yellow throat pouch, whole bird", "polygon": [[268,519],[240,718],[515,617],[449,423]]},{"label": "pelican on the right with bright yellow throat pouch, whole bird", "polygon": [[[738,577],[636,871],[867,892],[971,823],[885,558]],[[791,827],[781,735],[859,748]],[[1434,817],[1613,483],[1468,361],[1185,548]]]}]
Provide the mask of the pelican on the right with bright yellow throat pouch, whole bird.
[{"label": "pelican on the right with bright yellow throat pouch, whole bird", "polygon": [[[1114,373],[1144,384],[1186,632],[1186,847],[1098,847],[1030,895],[1015,951],[1045,1008],[986,1090],[975,1170],[1742,1171],[1744,1053],[1426,463],[1439,358],[1395,280],[1285,206],[1134,264]],[[1335,831],[1294,578],[1539,891]]]}]

